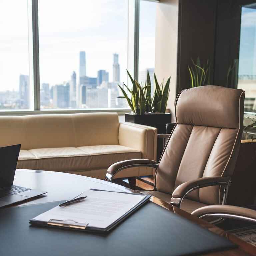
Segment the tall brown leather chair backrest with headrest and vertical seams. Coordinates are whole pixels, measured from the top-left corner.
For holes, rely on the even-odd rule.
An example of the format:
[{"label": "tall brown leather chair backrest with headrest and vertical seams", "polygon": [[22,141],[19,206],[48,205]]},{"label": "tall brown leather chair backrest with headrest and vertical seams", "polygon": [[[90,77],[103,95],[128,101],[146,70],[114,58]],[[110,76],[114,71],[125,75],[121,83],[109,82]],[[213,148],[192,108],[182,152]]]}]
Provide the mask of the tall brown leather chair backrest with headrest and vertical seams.
[{"label": "tall brown leather chair backrest with headrest and vertical seams", "polygon": [[[243,131],[244,91],[213,85],[183,90],[175,111],[176,125],[159,162],[156,189],[172,194],[186,181],[231,176]],[[201,188],[186,198],[219,204],[220,189]]]}]

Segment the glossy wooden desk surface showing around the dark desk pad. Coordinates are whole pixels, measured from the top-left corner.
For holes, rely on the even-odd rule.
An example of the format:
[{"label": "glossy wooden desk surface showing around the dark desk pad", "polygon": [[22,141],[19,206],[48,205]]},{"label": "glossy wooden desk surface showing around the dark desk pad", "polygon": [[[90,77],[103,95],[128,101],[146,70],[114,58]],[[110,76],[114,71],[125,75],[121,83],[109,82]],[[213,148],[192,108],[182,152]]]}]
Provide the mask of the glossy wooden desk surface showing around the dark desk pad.
[{"label": "glossy wooden desk surface showing around the dark desk pad", "polygon": [[[37,170],[17,169],[15,173],[14,184],[33,189],[45,190],[48,192],[46,195],[40,196],[35,200],[27,201],[22,205],[32,205],[38,203],[49,203],[54,201],[67,200],[70,199],[70,197],[75,197],[76,195],[91,187],[102,190],[125,192],[131,191],[130,189],[123,186],[90,177],[68,173]],[[161,201],[158,198],[152,197],[151,201],[162,207],[169,207],[164,201]],[[171,210],[176,214],[199,224],[203,228],[206,228],[220,236],[229,239],[230,241],[239,246],[238,249],[211,253],[207,255],[256,255],[256,248],[242,241],[241,239],[236,238],[223,231],[222,229],[217,228],[216,226],[209,224],[208,222],[200,220],[197,217],[192,216],[181,209],[178,209],[177,207],[173,207]]]}]

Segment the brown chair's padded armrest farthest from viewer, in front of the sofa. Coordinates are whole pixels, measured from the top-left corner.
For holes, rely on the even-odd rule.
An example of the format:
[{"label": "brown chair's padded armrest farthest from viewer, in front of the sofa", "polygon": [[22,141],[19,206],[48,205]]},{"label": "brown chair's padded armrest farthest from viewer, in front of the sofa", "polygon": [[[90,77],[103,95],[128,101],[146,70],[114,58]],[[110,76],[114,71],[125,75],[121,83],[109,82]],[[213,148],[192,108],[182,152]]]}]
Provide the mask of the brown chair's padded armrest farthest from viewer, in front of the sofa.
[{"label": "brown chair's padded armrest farthest from viewer, in front of the sofa", "polygon": [[132,167],[152,167],[156,169],[158,165],[156,164],[156,161],[149,159],[131,159],[120,161],[115,164],[112,164],[108,168],[105,180],[111,182],[118,172]]}]

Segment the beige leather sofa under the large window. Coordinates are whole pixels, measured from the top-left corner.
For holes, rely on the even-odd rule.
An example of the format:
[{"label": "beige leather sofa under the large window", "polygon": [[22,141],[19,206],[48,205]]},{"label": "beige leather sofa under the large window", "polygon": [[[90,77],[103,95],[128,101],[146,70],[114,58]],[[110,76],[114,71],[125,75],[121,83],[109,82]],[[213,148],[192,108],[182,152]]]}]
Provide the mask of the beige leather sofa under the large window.
[{"label": "beige leather sofa under the large window", "polygon": [[[104,179],[122,160],[156,160],[157,129],[119,123],[116,113],[0,116],[0,146],[21,144],[17,168],[75,173]],[[117,177],[152,175],[152,168]]]}]

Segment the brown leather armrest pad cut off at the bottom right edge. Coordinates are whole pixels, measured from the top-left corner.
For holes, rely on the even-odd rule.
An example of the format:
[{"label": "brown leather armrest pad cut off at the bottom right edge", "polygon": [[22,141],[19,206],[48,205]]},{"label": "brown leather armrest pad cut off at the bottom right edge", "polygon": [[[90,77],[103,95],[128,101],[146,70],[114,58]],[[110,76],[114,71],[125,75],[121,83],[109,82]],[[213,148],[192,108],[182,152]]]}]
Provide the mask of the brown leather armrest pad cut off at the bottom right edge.
[{"label": "brown leather armrest pad cut off at the bottom right edge", "polygon": [[208,205],[201,207],[195,211],[192,212],[192,215],[195,216],[202,216],[207,213],[224,213],[224,214],[232,214],[232,215],[238,215],[243,217],[248,217],[256,220],[256,211],[233,206],[233,205]]}]

